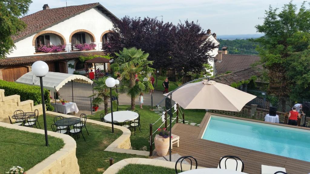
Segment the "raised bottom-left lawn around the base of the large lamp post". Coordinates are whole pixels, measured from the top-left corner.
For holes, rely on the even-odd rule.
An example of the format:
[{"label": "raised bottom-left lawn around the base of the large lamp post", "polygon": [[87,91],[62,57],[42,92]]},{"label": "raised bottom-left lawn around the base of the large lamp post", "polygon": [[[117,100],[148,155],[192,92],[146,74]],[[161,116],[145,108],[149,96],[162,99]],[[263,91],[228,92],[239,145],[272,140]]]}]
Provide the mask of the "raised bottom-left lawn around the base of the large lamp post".
[{"label": "raised bottom-left lawn around the base of the large lamp post", "polygon": [[44,134],[4,127],[0,127],[0,137],[0,173],[8,172],[12,166],[27,171],[64,146],[61,138],[48,136],[47,147]]}]

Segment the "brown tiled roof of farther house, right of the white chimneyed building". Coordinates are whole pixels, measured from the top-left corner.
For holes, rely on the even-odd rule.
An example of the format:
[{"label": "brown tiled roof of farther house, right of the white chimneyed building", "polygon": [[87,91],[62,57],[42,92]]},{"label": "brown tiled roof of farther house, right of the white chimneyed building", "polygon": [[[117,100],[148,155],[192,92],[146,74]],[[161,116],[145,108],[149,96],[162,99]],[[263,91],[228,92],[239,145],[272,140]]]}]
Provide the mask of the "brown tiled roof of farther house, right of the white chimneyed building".
[{"label": "brown tiled roof of farther house, right of the white chimneyed building", "polygon": [[[215,56],[215,60],[218,59],[218,56],[219,54]],[[258,55],[222,54],[222,60],[215,61],[215,69],[217,74],[224,74],[228,71],[235,72],[249,68],[259,61],[260,57]],[[259,69],[263,69],[263,67],[258,65],[257,71]]]}]

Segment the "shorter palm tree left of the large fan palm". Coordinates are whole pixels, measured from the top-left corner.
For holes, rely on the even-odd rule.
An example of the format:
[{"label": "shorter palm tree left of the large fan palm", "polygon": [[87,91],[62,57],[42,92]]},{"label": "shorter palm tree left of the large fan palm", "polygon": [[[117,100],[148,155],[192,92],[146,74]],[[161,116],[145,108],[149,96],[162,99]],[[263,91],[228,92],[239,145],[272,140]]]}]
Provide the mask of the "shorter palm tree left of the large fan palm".
[{"label": "shorter palm tree left of the large fan palm", "polygon": [[[93,100],[93,106],[94,105],[100,105],[102,102],[104,102],[104,114],[108,114],[108,99],[110,98],[110,89],[105,85],[105,80],[108,77],[100,77],[98,80],[94,80],[96,86],[94,86],[95,93],[92,96],[94,96]],[[112,96],[117,97],[118,94],[115,92],[115,88],[112,88]],[[113,105],[114,106],[114,105]]]}]

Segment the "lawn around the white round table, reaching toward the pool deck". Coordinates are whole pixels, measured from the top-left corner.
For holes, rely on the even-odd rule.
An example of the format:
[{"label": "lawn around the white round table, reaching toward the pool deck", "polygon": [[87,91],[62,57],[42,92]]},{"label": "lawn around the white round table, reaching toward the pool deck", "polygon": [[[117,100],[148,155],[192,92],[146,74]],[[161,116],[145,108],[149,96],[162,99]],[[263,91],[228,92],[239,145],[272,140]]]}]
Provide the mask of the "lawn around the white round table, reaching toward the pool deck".
[{"label": "lawn around the white round table, reaching toward the pool deck", "polygon": [[[123,111],[126,110],[127,107],[130,107],[129,105],[121,105],[118,108],[123,109]],[[157,121],[161,115],[157,115],[154,111],[151,111],[151,106],[143,106],[143,109],[140,109],[139,107],[136,107],[136,110],[140,113],[140,124],[141,124],[141,131],[139,129],[136,131],[136,135],[134,136],[132,131],[132,136],[130,137],[131,146],[134,150],[144,150],[149,151],[149,135],[150,135],[150,128],[149,125],[151,123],[154,123]],[[197,124],[200,124],[203,117],[206,114],[205,110],[182,110],[185,115],[185,120],[189,122],[194,122]],[[87,118],[92,120],[100,120],[100,114],[104,113],[104,111],[98,111],[95,113],[95,115],[88,115]],[[176,113],[174,114],[174,117],[176,116]],[[182,118],[181,114],[179,114],[180,119]],[[153,124],[153,132],[162,124],[162,121],[159,120],[156,124]],[[172,124],[172,126],[175,124],[175,122]],[[169,123],[167,123],[169,125]],[[165,124],[162,125],[162,128],[165,127]],[[155,133],[156,134],[156,133]],[[154,134],[154,136],[155,136]]]}]

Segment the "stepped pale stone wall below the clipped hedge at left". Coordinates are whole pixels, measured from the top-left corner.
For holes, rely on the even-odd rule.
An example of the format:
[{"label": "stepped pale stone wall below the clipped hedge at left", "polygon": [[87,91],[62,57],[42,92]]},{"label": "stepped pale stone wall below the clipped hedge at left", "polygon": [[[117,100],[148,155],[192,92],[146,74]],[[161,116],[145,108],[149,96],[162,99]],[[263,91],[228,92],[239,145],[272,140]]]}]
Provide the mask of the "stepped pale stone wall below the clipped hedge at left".
[{"label": "stepped pale stone wall below the clipped hedge at left", "polygon": [[[14,115],[14,111],[34,112],[39,110],[39,115],[43,113],[42,105],[33,106],[33,100],[21,102],[19,95],[4,96],[4,89],[0,89],[0,122],[10,123],[9,117]],[[14,119],[11,119],[14,122]]]}]

